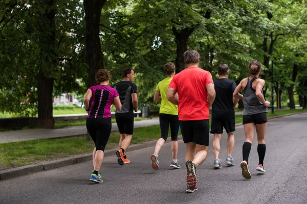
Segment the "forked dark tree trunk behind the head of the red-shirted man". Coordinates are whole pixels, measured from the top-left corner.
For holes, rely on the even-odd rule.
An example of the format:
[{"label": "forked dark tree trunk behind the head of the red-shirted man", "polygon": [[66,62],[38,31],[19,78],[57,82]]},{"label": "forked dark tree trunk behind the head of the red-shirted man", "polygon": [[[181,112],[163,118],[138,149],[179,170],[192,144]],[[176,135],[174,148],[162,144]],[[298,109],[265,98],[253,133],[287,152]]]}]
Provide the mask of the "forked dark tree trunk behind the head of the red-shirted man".
[{"label": "forked dark tree trunk behind the head of the red-shirted man", "polygon": [[185,68],[185,63],[183,60],[183,54],[187,50],[187,42],[189,39],[189,36],[193,33],[194,28],[185,28],[182,29],[180,32],[177,31],[175,27],[172,27],[172,32],[174,36],[176,37],[176,44],[177,44],[177,49],[176,49],[176,72],[180,72]]}]

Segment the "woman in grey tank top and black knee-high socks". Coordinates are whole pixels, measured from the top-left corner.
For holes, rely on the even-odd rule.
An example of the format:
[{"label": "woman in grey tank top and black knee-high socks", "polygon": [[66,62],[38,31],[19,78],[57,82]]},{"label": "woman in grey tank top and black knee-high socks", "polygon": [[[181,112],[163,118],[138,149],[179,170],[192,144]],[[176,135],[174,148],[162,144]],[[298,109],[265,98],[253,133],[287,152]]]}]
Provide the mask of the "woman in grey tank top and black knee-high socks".
[{"label": "woman in grey tank top and black knee-high socks", "polygon": [[[270,102],[265,100],[263,88],[265,80],[259,79],[261,64],[253,60],[249,66],[250,77],[243,79],[233,92],[233,97],[243,99],[243,124],[245,130],[245,142],[243,144],[243,162],[242,175],[245,179],[251,179],[251,173],[248,168],[248,157],[254,140],[254,130],[256,127],[258,139],[258,156],[259,163],[257,171],[266,172],[264,168],[264,158],[266,154],[265,136],[267,132],[267,112]],[[239,92],[243,90],[243,95]]]}]

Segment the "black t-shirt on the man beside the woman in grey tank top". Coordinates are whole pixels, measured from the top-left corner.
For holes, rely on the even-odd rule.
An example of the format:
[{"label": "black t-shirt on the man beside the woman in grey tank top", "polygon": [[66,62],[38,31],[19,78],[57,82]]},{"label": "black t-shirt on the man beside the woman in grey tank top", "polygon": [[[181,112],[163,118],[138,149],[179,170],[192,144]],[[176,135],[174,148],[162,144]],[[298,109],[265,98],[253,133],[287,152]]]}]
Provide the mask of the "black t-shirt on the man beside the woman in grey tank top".
[{"label": "black t-shirt on the man beside the woman in grey tank top", "polygon": [[234,118],[232,94],[236,88],[234,81],[216,79],[214,82],[215,100],[212,104],[212,118]]}]

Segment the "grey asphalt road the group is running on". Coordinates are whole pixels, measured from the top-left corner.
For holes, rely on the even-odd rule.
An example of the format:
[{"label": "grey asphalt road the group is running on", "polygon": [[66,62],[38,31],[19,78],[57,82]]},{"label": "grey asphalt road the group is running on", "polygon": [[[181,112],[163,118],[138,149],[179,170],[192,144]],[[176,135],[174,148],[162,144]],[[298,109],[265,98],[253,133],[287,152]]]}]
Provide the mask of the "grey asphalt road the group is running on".
[{"label": "grey asphalt road the group is running on", "polygon": [[[234,167],[225,167],[226,134],[221,142],[221,169],[213,169],[212,139],[206,161],[197,168],[199,190],[185,193],[185,146],[179,145],[182,169],[170,169],[170,143],[163,146],[160,169],[151,169],[154,147],[128,152],[130,164],[106,157],[102,184],[89,181],[85,162],[0,181],[0,203],[307,203],[307,114],[270,120],[266,136],[266,174],[257,173],[257,141],[250,154],[251,180],[241,175],[243,126],[236,127]],[[16,147],[18,148],[18,147]]]}]

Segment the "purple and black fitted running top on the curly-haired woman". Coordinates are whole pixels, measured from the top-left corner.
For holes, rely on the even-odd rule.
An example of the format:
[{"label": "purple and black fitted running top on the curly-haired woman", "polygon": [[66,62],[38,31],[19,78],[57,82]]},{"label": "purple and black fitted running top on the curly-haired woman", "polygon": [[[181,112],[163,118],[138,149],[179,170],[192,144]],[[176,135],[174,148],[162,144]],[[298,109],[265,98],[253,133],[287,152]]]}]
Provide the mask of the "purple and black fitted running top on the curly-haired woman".
[{"label": "purple and black fitted running top on the curly-haired woman", "polygon": [[111,105],[118,96],[117,91],[104,85],[91,86],[92,103],[88,118],[111,118]]}]

